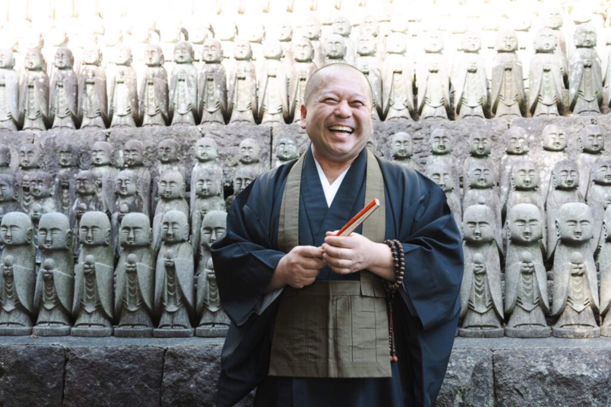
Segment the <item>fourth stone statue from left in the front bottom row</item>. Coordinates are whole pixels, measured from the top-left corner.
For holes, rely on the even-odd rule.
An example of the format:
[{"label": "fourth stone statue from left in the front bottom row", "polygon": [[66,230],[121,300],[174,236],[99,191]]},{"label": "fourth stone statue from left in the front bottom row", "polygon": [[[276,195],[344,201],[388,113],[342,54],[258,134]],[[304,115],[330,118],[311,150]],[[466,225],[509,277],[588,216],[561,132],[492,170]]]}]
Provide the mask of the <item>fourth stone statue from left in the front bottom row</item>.
[{"label": "fourth stone statue from left in the front bottom row", "polygon": [[114,312],[119,317],[119,325],[114,328],[114,336],[152,336],[155,251],[147,215],[126,214],[119,236],[123,251],[116,270]]}]

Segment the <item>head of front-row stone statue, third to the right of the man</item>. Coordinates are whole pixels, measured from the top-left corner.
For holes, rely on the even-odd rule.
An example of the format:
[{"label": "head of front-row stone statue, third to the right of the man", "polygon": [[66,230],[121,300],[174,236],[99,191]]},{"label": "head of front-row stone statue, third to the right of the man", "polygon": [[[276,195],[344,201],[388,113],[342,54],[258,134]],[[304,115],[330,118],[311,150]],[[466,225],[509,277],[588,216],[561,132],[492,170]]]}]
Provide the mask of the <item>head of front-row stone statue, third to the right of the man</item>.
[{"label": "head of front-row stone statue, third to the right of the man", "polygon": [[555,220],[556,234],[563,242],[587,242],[594,236],[593,224],[590,207],[584,203],[566,203],[560,207]]}]

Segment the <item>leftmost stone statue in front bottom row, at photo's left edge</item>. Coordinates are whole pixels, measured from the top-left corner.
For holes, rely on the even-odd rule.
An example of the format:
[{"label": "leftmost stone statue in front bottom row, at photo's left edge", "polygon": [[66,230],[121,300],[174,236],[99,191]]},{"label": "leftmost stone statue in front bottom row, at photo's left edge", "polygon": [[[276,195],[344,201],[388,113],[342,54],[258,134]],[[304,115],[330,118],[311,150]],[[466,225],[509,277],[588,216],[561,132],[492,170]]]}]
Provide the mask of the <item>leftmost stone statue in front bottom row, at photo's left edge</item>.
[{"label": "leftmost stone statue in front bottom row, at photo's left edge", "polygon": [[4,214],[0,240],[0,335],[29,335],[36,280],[32,221],[21,212]]}]

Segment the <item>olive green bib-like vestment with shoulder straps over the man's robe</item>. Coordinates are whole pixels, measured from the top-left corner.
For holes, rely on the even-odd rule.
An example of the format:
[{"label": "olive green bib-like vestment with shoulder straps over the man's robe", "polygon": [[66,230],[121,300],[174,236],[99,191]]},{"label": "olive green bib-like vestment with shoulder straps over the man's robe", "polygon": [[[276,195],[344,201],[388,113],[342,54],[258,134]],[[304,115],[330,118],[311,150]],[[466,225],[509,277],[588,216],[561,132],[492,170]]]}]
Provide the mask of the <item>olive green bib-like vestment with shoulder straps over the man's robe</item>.
[{"label": "olive green bib-like vestment with shoulder straps over the man's robe", "polygon": [[[304,155],[293,165],[280,206],[278,245],[288,253],[299,245],[299,192]],[[384,180],[367,151],[364,205],[380,207],[363,224],[363,235],[384,242]],[[343,225],[337,225],[340,228]],[[269,375],[292,377],[389,377],[386,293],[366,270],[360,281],[319,281],[302,289],[285,287],[276,316]]]}]

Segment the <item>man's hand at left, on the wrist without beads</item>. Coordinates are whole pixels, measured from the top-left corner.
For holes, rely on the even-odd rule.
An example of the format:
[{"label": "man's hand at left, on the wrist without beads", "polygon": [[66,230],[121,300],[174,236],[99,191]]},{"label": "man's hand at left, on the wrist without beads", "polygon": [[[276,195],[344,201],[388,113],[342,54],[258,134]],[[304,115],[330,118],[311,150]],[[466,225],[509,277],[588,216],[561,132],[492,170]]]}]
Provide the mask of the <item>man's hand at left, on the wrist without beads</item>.
[{"label": "man's hand at left, on the wrist without beads", "polygon": [[296,246],[278,262],[269,280],[266,292],[284,286],[303,288],[314,283],[320,269],[324,267],[324,251],[320,247]]}]

